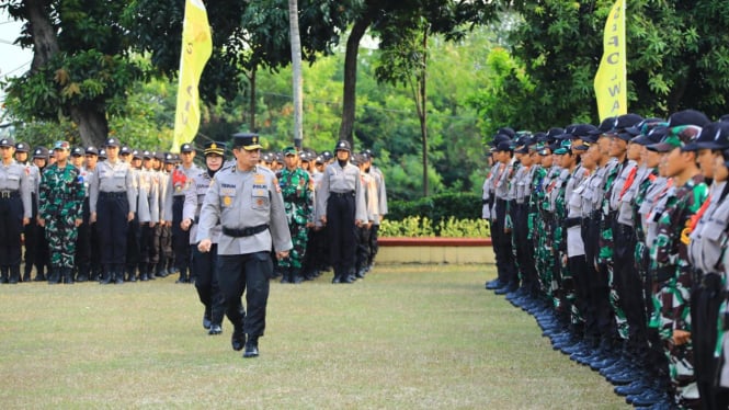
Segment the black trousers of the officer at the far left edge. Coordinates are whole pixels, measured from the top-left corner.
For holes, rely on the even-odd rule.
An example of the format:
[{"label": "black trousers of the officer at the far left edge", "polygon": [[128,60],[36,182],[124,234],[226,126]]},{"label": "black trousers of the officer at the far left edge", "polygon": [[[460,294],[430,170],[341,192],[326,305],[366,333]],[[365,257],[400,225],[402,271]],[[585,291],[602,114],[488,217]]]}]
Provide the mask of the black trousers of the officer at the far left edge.
[{"label": "black trousers of the officer at the far left edge", "polygon": [[23,201],[19,194],[0,198],[0,266],[20,266]]}]

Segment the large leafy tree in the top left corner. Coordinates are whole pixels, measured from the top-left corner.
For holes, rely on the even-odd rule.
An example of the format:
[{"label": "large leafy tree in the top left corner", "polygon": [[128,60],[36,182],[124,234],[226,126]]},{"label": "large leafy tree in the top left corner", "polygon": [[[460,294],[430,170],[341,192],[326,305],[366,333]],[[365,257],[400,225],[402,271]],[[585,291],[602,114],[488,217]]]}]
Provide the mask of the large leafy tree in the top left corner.
[{"label": "large leafy tree in the top left corner", "polygon": [[0,8],[25,22],[18,43],[34,52],[30,71],[9,80],[9,110],[21,121],[70,117],[83,144],[99,145],[107,114],[118,113],[117,100],[143,75],[118,23],[126,2],[15,0]]}]

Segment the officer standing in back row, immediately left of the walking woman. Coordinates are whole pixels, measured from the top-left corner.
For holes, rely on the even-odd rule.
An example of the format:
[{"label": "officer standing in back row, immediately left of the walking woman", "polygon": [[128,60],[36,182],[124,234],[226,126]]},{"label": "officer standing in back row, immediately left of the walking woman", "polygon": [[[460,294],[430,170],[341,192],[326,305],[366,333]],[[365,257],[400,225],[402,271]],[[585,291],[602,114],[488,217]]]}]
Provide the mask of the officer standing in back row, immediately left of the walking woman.
[{"label": "officer standing in back row, immediately left of the walking woman", "polygon": [[[164,202],[164,215],[172,216],[172,250],[174,251],[174,267],[180,271],[176,283],[189,283],[195,272],[190,271],[190,232],[183,230],[182,208],[185,203],[185,193],[192,186],[192,179],[202,170],[193,163],[195,149],[190,144],[180,147],[182,163],[174,168],[167,186],[167,198]],[[194,277],[193,277],[194,278]]]}]

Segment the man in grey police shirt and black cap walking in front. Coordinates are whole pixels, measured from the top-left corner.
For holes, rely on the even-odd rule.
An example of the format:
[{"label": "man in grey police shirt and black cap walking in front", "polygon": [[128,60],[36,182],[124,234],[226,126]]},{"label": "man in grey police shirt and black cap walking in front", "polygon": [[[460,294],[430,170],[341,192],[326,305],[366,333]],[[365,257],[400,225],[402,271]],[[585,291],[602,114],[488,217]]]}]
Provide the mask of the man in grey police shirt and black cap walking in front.
[{"label": "man in grey police shirt and black cap walking in front", "polygon": [[[243,357],[255,357],[265,330],[269,278],[273,274],[271,249],[273,246],[281,260],[293,246],[278,181],[272,171],[258,166],[259,136],[233,135],[233,155],[236,167],[216,173],[205,195],[197,249],[212,250],[210,231],[219,220],[218,281],[226,315],[233,324],[232,349],[244,346]],[[248,315],[240,299],[243,291]]]}]

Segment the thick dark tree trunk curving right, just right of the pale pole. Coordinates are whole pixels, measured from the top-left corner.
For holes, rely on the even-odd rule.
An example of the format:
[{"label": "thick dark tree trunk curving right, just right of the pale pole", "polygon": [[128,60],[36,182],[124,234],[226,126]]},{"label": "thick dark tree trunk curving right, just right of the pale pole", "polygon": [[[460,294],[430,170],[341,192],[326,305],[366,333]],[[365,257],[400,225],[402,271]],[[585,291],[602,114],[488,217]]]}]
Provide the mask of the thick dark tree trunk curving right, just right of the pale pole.
[{"label": "thick dark tree trunk curving right, just right of the pale pole", "polygon": [[354,146],[354,112],[356,110],[357,88],[357,55],[360,41],[372,23],[372,16],[365,15],[354,23],[350,37],[346,39],[344,54],[344,94],[342,96],[342,124],[339,128],[339,139],[345,139]]}]

